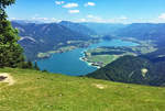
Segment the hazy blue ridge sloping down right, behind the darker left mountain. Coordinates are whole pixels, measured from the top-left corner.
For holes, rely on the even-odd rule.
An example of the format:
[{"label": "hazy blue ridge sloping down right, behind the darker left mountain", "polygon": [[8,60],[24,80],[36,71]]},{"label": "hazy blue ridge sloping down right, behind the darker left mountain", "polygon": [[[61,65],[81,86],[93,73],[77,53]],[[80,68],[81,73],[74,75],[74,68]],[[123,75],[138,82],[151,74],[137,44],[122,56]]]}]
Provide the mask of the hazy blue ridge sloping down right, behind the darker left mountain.
[{"label": "hazy blue ridge sloping down right, behind the darker left mountain", "polygon": [[75,32],[84,34],[84,35],[88,35],[88,36],[96,35],[95,31],[92,31],[91,29],[87,27],[86,25],[84,25],[81,23],[62,21],[58,24],[64,25],[64,26],[70,29],[72,31],[75,31]]}]

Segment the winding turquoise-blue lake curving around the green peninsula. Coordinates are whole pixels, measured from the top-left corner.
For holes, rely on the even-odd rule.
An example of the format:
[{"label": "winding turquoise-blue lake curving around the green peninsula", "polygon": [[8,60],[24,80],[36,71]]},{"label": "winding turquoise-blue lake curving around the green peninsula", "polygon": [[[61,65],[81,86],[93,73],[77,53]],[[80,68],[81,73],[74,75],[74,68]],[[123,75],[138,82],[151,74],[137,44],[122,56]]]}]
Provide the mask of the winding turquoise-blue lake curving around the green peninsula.
[{"label": "winding turquoise-blue lake curving around the green peninsula", "polygon": [[136,46],[139,44],[125,42],[121,40],[101,41],[97,44],[91,44],[87,48],[76,48],[62,54],[53,54],[50,58],[37,60],[40,69],[46,69],[50,73],[65,74],[70,76],[86,75],[95,71],[97,68],[89,66],[86,62],[79,58],[84,56],[84,51],[96,48],[99,46]]}]

